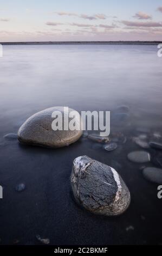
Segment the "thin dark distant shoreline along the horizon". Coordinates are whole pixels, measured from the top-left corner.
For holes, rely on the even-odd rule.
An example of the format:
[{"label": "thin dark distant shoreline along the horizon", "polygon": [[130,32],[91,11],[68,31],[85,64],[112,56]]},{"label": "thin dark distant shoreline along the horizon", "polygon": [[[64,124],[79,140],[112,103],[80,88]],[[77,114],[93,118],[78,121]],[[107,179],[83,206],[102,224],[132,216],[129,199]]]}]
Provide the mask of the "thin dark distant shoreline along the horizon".
[{"label": "thin dark distant shoreline along the horizon", "polygon": [[162,41],[41,41],[0,42],[2,45],[158,45]]}]

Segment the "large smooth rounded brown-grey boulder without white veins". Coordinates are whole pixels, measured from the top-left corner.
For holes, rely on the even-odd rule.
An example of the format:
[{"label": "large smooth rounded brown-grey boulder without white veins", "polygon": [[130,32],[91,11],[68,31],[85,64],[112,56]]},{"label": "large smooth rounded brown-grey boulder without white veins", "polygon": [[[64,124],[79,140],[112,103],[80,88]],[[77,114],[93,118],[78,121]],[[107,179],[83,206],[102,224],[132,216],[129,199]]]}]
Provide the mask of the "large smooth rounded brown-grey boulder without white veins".
[{"label": "large smooth rounded brown-grey boulder without white veins", "polygon": [[[32,115],[18,130],[18,140],[24,144],[51,148],[60,148],[76,142],[82,135],[81,116],[79,115],[79,118],[75,117],[74,119],[79,126],[79,130],[54,131],[51,127],[54,120],[51,114],[54,111],[61,111],[62,117],[64,118],[64,115],[66,115],[66,118],[68,118],[69,112],[74,111],[74,109],[69,108],[68,112],[64,112],[63,107],[51,107]],[[68,118],[68,122],[72,119]]]}]

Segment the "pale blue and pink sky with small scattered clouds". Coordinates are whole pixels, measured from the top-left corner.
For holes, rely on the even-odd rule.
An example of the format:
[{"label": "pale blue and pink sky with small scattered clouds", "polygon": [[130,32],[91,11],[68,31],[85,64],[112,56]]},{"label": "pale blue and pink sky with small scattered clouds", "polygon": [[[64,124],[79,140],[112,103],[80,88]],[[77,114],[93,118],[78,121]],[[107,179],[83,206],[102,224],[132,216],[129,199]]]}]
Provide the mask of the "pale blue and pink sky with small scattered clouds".
[{"label": "pale blue and pink sky with small scattered clouds", "polygon": [[0,42],[162,40],[162,0],[0,0]]}]

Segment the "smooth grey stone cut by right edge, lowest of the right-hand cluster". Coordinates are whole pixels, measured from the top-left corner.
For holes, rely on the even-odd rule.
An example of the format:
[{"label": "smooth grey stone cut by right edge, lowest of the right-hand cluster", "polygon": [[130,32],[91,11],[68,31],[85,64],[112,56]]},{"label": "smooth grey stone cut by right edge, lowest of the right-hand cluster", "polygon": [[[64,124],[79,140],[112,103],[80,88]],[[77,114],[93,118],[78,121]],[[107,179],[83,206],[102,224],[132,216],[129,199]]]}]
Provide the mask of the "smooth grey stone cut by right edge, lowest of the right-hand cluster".
[{"label": "smooth grey stone cut by right edge, lowest of the right-hand cluster", "polygon": [[147,167],[143,170],[144,177],[157,184],[162,184],[162,169]]}]

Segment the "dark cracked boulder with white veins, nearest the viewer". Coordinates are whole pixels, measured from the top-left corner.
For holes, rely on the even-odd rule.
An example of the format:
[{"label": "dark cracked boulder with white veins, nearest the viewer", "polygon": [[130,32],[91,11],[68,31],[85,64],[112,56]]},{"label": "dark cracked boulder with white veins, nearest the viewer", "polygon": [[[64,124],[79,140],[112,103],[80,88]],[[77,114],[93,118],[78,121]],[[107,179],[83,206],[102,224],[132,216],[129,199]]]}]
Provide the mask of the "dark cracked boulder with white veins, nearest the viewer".
[{"label": "dark cracked boulder with white veins, nearest the viewer", "polygon": [[129,190],[116,170],[88,156],[73,161],[70,181],[76,202],[94,214],[120,215],[129,206]]}]

